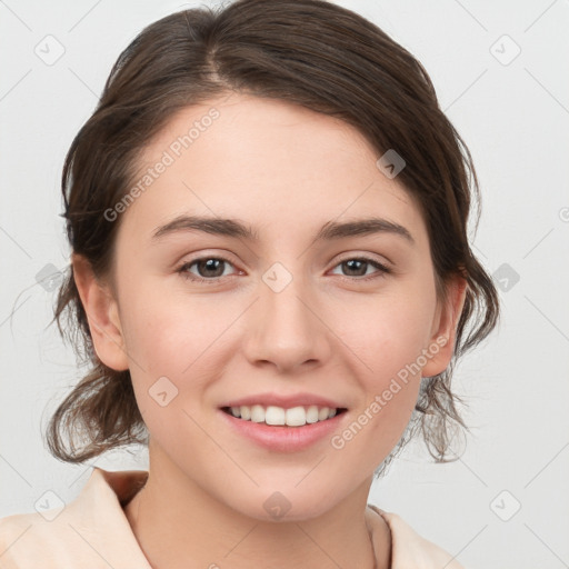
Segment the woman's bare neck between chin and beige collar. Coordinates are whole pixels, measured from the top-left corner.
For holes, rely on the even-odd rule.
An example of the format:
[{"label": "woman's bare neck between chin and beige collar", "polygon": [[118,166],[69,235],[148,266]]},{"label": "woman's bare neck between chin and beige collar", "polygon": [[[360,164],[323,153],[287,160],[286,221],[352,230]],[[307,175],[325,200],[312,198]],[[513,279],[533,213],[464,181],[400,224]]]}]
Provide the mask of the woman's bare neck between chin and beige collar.
[{"label": "woman's bare neck between chin and beige collar", "polygon": [[262,521],[227,507],[171,462],[153,462],[151,457],[147,485],[124,513],[153,569],[388,569],[389,529],[385,521],[377,523],[372,538],[366,518],[370,483],[367,480],[323,516]]}]

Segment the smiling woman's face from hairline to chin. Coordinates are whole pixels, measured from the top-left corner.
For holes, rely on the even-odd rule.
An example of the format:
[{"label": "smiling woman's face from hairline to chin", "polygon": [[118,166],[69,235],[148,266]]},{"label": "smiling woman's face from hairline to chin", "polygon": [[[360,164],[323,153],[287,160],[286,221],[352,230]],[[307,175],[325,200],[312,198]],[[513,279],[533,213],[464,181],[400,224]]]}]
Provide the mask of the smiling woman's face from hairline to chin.
[{"label": "smiling woman's face from hairline to chin", "polygon": [[120,213],[116,302],[93,336],[130,368],[151,469],[301,519],[392,450],[455,320],[419,207],[379,157],[342,121],[238,94],[184,109],[147,147],[151,182]]}]

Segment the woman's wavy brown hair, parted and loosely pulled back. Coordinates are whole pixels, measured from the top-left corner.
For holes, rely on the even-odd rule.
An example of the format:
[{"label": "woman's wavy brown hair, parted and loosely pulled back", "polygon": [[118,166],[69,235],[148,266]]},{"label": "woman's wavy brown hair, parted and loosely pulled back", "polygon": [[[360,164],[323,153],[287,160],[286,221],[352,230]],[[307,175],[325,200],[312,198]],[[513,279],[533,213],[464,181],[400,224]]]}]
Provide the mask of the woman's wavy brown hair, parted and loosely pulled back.
[{"label": "woman's wavy brown hair, parted and loosely pulled back", "polygon": [[[142,30],[119,56],[64,162],[62,217],[73,252],[99,278],[111,277],[120,220],[109,222],[103,212],[127,193],[144,146],[184,107],[232,91],[340,118],[366,136],[378,157],[395,149],[405,159],[398,180],[422,209],[438,292],[445,297],[441,283],[456,272],[468,289],[452,361],[422,379],[413,418],[388,459],[420,429],[431,455],[446,460],[450,428],[465,427],[450,389],[455,361],[490,333],[499,316],[492,280],[467,236],[472,197],[479,203],[478,180],[423,67],[359,14],[325,0],[238,0],[217,10],[180,11]],[[54,315],[60,333],[90,369],[50,419],[50,451],[82,462],[147,443],[130,372],[108,368],[93,351],[71,266]],[[76,438],[83,439],[79,447]]]}]

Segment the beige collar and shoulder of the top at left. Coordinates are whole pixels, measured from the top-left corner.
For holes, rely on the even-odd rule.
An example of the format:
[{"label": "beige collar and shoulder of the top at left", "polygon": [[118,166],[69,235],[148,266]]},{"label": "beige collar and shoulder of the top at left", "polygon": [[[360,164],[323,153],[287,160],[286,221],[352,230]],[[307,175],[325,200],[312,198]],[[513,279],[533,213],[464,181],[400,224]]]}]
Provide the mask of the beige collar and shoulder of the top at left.
[{"label": "beige collar and shoulder of the top at left", "polygon": [[0,569],[149,569],[121,502],[146,472],[94,468],[79,496],[0,519]]}]

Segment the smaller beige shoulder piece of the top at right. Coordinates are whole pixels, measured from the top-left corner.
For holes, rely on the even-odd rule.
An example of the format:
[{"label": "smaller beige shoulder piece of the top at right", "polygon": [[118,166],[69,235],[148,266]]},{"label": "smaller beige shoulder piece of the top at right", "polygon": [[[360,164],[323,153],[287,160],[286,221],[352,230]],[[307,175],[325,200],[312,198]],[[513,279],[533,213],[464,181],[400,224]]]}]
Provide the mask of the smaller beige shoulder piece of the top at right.
[{"label": "smaller beige shoulder piece of the top at right", "polygon": [[381,516],[391,531],[392,569],[465,569],[450,553],[417,533],[400,516],[368,505]]}]

